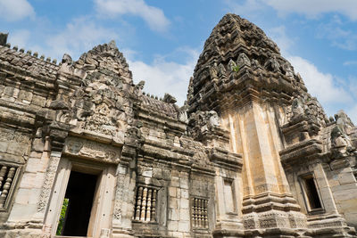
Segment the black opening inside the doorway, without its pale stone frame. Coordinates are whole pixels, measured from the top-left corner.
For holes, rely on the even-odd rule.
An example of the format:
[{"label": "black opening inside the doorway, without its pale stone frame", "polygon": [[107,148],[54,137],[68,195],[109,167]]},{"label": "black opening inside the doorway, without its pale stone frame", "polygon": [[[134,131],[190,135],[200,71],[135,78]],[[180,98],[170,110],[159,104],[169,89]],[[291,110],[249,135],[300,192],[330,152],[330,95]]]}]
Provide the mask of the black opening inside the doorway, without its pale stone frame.
[{"label": "black opening inside the doorway, without its pale stone frame", "polygon": [[[57,234],[87,236],[88,223],[93,205],[97,176],[71,171],[66,194],[65,216],[60,220]],[[63,210],[63,209],[66,210]],[[59,230],[61,229],[61,230]]]}]

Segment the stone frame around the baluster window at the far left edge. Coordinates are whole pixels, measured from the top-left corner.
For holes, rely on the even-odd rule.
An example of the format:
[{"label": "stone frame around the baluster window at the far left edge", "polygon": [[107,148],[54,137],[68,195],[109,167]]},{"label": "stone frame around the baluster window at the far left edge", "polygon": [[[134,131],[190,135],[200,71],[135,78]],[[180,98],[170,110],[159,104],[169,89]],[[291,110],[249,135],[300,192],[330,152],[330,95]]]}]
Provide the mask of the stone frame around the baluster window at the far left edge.
[{"label": "stone frame around the baluster window at the far left edge", "polygon": [[[20,182],[22,166],[19,164],[7,162],[7,161],[0,161],[0,166],[16,168],[15,175],[12,178],[12,184],[10,185],[9,192],[7,193],[6,199],[4,201],[4,207],[0,208],[0,212],[9,212],[12,202],[14,201],[14,194],[16,192],[16,188],[18,187],[18,184]],[[3,183],[5,183],[5,182],[6,182],[6,180],[4,179]]]}]

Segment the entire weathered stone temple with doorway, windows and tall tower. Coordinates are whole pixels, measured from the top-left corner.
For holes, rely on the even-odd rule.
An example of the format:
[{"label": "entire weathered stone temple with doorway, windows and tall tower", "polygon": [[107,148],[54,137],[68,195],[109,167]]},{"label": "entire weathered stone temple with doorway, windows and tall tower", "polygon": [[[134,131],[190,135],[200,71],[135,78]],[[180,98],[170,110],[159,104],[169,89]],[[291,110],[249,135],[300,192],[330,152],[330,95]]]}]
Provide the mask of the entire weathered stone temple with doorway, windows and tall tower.
[{"label": "entire weathered stone temple with doorway, windows and tall tower", "polygon": [[0,34],[0,237],[357,237],[357,127],[262,29],[224,16],[182,107],[144,86]]}]

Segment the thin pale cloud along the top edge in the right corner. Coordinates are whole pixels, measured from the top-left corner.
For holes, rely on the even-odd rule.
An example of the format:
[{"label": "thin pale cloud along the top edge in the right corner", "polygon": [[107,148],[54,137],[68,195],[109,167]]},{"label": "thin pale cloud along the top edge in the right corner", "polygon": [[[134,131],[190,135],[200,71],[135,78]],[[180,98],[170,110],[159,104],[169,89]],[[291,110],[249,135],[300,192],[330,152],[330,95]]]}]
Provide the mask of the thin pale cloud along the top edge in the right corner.
[{"label": "thin pale cloud along the top edge in the right corner", "polygon": [[281,15],[297,12],[307,17],[317,17],[321,13],[339,12],[351,20],[357,20],[357,1],[355,0],[266,0]]}]

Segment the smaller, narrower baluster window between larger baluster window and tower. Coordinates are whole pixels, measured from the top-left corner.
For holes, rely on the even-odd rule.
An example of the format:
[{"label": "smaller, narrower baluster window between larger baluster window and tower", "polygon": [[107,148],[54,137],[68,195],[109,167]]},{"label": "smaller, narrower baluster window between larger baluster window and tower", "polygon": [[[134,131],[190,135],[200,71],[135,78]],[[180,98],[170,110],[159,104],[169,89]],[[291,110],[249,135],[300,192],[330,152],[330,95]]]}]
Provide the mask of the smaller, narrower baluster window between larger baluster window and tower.
[{"label": "smaller, narrower baluster window between larger baluster window and tower", "polygon": [[208,200],[192,198],[192,226],[194,229],[208,228]]}]

